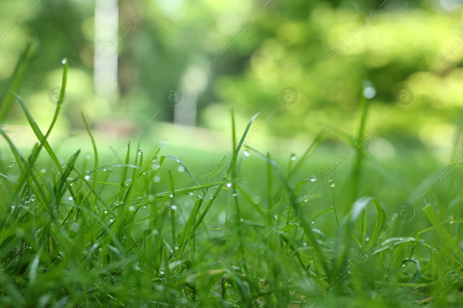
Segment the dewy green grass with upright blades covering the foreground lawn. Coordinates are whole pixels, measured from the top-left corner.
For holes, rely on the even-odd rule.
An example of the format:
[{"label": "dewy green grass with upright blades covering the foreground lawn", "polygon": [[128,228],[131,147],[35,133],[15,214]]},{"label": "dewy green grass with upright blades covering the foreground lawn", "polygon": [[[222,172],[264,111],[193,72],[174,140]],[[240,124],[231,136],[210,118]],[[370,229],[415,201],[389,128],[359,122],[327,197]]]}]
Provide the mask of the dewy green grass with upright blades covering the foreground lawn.
[{"label": "dewy green grass with upright blades covering the foreground lawn", "polygon": [[[39,142],[27,155],[13,146],[16,163],[5,166],[0,179],[3,307],[432,308],[463,302],[458,170],[447,186],[432,175],[391,199],[380,184],[371,185],[370,173],[394,180],[413,168],[399,166],[391,175],[365,147],[346,179],[333,176],[334,187],[301,175],[326,132],[348,145],[363,135],[366,101],[356,137],[325,126],[305,153],[279,163],[244,146],[257,115],[238,133],[232,110],[231,154],[206,181],[177,157],[138,145],[128,147],[124,161],[101,167],[83,113],[94,153],[82,157],[75,149],[60,163],[48,142],[60,106],[44,133],[14,97]],[[39,161],[43,151],[49,159]],[[323,187],[311,193],[315,185]],[[423,202],[431,185],[437,187],[432,203]],[[410,220],[391,201],[403,198],[413,207],[407,210],[416,211]]]}]

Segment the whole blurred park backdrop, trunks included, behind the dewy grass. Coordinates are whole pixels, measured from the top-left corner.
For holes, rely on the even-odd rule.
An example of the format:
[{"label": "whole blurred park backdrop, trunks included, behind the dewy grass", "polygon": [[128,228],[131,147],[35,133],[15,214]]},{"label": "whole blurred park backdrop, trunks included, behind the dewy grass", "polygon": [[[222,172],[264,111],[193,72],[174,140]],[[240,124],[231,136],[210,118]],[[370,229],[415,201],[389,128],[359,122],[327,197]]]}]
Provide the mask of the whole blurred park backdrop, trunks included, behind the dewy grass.
[{"label": "whole blurred park backdrop, trunks included, behind the dewy grass", "polygon": [[[238,133],[260,113],[248,144],[287,161],[292,152],[299,157],[325,125],[355,135],[358,102],[368,99],[366,127],[375,130],[368,151],[398,180],[372,171],[364,189],[374,186],[393,208],[453,160],[463,103],[462,3],[3,0],[0,93],[36,37],[40,47],[19,95],[46,130],[55,110],[50,97],[61,85],[61,60],[68,58],[68,99],[49,138],[60,158],[66,161],[77,148],[92,152],[82,110],[102,161],[112,155],[109,146],[118,148],[141,129],[141,147],[161,146],[204,181],[231,149],[230,106]],[[109,41],[118,44],[107,47]],[[3,122],[12,134],[27,129],[21,149],[37,142],[17,102]],[[300,177],[321,180],[348,147],[327,133]],[[7,166],[13,156],[1,159]],[[255,162],[251,171],[264,170],[262,161]],[[333,176],[339,186],[348,171],[343,165]]]}]

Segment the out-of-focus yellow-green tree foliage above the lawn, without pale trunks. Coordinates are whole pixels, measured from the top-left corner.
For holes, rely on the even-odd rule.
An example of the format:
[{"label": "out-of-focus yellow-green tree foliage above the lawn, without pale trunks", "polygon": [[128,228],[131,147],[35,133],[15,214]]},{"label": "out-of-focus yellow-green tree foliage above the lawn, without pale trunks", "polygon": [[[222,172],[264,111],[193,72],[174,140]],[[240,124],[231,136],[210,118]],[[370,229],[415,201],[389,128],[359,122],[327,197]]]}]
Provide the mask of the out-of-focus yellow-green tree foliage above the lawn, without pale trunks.
[{"label": "out-of-focus yellow-green tree foliage above the lawn, without pale trunks", "polygon": [[[32,114],[44,110],[39,125],[49,123],[54,106],[48,92],[59,85],[56,69],[67,57],[71,82],[63,115],[69,120],[57,123],[63,132],[82,129],[75,115],[81,109],[93,123],[147,121],[158,111],[154,121],[172,121],[174,107],[164,102],[164,91],[181,86],[195,67],[207,79],[198,97],[198,126],[227,129],[225,110],[232,105],[238,118],[260,112],[260,125],[281,137],[313,136],[320,129],[316,122],[354,132],[361,84],[368,79],[376,91],[369,126],[378,126],[392,111],[381,123],[382,135],[448,146],[463,99],[463,54],[458,48],[447,52],[456,41],[463,43],[462,1],[380,2],[121,0],[120,28],[137,12],[144,18],[119,41],[119,99],[108,107],[92,94],[94,1],[4,0],[0,30],[22,12],[27,18],[0,42],[0,91],[6,90],[28,39],[36,36],[41,49],[20,94]],[[258,17],[250,28],[230,40],[253,14]],[[347,41],[345,35],[368,16],[373,17]],[[211,62],[211,52],[224,41],[229,46]],[[345,46],[327,62],[326,53],[340,41]],[[445,52],[447,60],[439,61]],[[279,99],[288,86],[299,93],[293,106]],[[414,93],[409,106],[397,103],[402,86]],[[8,121],[24,122],[18,111],[14,104]]]}]

